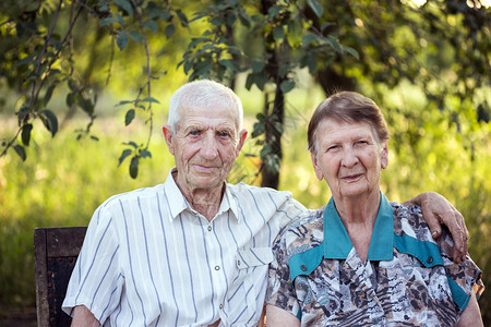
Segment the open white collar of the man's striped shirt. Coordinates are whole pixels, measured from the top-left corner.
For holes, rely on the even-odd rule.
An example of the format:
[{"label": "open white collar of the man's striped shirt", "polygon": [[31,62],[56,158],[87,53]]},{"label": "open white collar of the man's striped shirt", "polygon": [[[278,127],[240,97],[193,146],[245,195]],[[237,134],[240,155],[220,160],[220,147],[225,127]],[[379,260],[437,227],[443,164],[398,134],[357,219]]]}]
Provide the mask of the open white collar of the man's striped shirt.
[{"label": "open white collar of the man's striped shirt", "polygon": [[[179,214],[181,214],[183,210],[189,209],[193,211],[194,209],[191,208],[191,205],[185,199],[184,195],[181,193],[181,190],[179,190],[178,185],[176,184],[176,181],[173,180],[172,173],[177,171],[177,168],[172,168],[169,171],[169,174],[167,175],[167,180],[164,184],[164,190],[168,199],[168,206],[170,209],[170,217],[169,220],[176,219]],[[236,197],[232,196],[232,192],[230,190],[230,186],[225,183],[225,193],[224,198],[221,199],[220,208],[218,209],[218,213],[216,216],[226,213],[227,210],[231,211],[231,214],[236,217],[238,221],[239,215],[238,215],[238,204],[236,201]]]}]

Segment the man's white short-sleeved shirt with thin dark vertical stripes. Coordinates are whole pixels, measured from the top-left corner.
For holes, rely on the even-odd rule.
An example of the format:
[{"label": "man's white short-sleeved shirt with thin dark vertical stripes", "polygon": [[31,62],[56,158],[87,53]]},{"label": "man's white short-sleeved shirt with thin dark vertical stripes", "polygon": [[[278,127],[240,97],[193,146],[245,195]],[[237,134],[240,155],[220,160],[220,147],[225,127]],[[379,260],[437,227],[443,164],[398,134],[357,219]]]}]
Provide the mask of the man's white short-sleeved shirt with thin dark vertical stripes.
[{"label": "man's white short-sleeved shirt with thin dark vertical stripes", "polygon": [[254,326],[272,243],[304,210],[289,192],[227,184],[208,222],[169,172],[97,208],[63,311],[83,304],[104,326]]}]

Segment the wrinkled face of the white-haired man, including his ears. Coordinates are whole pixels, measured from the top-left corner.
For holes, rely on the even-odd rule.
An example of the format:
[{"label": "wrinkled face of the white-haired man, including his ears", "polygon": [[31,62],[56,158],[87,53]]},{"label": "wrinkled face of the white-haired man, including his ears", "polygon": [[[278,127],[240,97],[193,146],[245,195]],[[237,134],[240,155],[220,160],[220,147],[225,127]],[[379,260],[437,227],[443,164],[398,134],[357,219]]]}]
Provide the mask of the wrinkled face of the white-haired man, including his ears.
[{"label": "wrinkled face of the white-haired man, including his ears", "polygon": [[177,184],[188,194],[211,191],[224,185],[239,156],[247,132],[238,133],[237,111],[217,105],[180,110],[173,134],[164,126],[169,152],[175,156]]}]

